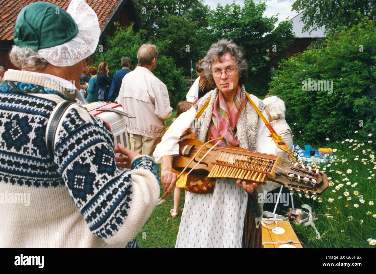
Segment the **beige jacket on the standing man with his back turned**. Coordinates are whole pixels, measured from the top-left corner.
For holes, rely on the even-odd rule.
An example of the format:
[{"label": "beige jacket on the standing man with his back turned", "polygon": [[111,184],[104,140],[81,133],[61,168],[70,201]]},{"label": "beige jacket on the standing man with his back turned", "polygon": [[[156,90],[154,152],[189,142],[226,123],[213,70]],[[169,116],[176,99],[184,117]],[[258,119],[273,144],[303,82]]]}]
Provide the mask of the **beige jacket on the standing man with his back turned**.
[{"label": "beige jacket on the standing man with his back turned", "polygon": [[126,118],[129,133],[158,138],[171,117],[172,108],[165,84],[146,67],[136,67],[127,73],[117,102],[136,118]]}]

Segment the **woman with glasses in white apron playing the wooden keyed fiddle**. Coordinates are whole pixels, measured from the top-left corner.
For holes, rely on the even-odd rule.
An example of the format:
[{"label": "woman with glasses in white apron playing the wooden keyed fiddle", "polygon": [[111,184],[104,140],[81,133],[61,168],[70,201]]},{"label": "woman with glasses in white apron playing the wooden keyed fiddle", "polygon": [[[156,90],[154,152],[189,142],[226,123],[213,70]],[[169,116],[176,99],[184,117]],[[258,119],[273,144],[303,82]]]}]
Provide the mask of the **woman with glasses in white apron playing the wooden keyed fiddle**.
[{"label": "woman with glasses in white apron playing the wooden keyed fiddle", "polygon": [[[179,154],[180,136],[192,124],[196,127],[195,137],[201,142],[222,137],[213,144],[270,154],[276,151],[276,145],[268,138],[267,127],[249,100],[266,117],[264,103],[252,94],[246,96],[243,84],[248,63],[241,48],[231,40],[220,40],[209,49],[203,67],[215,89],[171,124],[154,152],[156,162],[162,162],[164,191],[171,191],[175,186],[172,159]],[[196,123],[192,123],[194,119]],[[251,207],[249,201],[250,195],[257,195],[256,190],[260,189],[262,192],[262,186],[255,181],[217,178],[213,193],[188,193],[176,247],[261,247],[261,229],[257,227],[262,214],[252,212],[262,213],[262,203]]]}]

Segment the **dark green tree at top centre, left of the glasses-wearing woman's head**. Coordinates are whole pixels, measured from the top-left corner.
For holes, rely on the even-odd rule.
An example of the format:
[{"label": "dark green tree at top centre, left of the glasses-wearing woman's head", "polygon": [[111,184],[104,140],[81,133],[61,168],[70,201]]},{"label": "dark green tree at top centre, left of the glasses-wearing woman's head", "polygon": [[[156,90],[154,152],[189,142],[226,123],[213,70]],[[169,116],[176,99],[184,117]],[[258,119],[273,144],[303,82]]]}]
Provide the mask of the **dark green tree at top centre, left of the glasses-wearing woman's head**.
[{"label": "dark green tree at top centre, left of the glasses-wearing woman's head", "polygon": [[140,0],[136,10],[146,39],[163,43],[163,53],[190,74],[191,60],[196,63],[210,45],[211,37],[202,35],[208,34],[209,7],[202,0]]}]

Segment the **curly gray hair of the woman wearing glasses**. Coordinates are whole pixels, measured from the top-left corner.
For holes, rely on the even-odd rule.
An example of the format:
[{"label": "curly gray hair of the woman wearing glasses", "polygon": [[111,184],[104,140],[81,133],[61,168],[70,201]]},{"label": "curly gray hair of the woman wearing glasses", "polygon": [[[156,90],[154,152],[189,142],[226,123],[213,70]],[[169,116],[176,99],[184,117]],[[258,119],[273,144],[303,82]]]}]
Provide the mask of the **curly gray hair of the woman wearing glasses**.
[{"label": "curly gray hair of the woman wearing glasses", "polygon": [[212,84],[215,85],[212,75],[212,63],[217,60],[223,61],[223,55],[227,52],[235,58],[237,68],[241,76],[240,84],[244,84],[246,82],[248,62],[246,58],[244,58],[243,49],[233,43],[232,40],[226,39],[219,40],[217,43],[212,44],[210,49],[208,50],[208,53],[206,54],[203,62],[206,78],[209,82],[212,82]]}]

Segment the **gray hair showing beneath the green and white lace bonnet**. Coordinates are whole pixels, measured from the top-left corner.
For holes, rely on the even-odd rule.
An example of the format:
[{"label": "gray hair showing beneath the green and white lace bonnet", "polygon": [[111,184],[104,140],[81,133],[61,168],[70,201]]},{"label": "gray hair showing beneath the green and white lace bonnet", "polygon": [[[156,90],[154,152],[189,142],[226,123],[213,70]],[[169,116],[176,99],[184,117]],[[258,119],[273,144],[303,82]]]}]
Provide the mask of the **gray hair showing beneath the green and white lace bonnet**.
[{"label": "gray hair showing beneath the green and white lace bonnet", "polygon": [[48,61],[39,55],[38,52],[30,48],[20,48],[16,45],[12,46],[9,56],[11,57],[12,64],[20,69],[38,71],[45,69],[48,64]]}]

